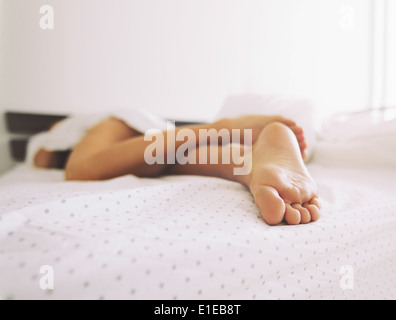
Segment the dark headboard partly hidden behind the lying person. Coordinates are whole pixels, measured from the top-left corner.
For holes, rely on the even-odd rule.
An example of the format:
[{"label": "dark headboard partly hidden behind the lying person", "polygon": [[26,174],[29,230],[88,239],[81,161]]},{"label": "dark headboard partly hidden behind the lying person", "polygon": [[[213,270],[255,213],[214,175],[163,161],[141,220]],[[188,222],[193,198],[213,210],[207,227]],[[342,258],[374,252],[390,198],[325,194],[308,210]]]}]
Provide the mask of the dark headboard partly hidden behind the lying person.
[{"label": "dark headboard partly hidden behind the lying person", "polygon": [[[23,162],[26,158],[26,147],[29,138],[39,132],[47,131],[51,126],[69,115],[51,115],[40,113],[6,112],[5,121],[10,138],[12,158]],[[173,120],[172,120],[173,121]],[[197,124],[191,121],[175,121],[176,126]]]}]

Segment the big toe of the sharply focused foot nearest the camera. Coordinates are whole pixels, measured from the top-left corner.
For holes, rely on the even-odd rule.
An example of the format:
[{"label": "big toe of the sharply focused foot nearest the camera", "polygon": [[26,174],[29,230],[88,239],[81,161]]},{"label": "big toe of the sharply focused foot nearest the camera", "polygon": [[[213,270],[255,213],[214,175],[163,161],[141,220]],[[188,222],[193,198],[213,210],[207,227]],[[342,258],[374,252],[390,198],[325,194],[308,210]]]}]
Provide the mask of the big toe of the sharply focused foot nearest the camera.
[{"label": "big toe of the sharply focused foot nearest the camera", "polygon": [[267,224],[276,225],[283,221],[285,203],[274,188],[260,186],[255,190],[253,196],[261,216]]}]

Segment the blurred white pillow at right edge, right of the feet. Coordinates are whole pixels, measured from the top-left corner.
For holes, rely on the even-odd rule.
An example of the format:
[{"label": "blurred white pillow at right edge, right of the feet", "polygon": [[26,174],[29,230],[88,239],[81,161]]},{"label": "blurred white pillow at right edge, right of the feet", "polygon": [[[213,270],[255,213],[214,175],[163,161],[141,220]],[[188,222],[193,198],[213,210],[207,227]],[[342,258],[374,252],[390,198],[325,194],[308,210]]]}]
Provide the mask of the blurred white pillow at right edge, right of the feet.
[{"label": "blurred white pillow at right edge, right of the feet", "polygon": [[371,113],[331,118],[324,123],[314,162],[326,166],[396,168],[396,119]]}]

